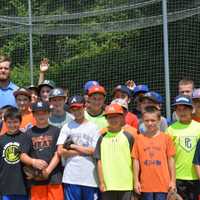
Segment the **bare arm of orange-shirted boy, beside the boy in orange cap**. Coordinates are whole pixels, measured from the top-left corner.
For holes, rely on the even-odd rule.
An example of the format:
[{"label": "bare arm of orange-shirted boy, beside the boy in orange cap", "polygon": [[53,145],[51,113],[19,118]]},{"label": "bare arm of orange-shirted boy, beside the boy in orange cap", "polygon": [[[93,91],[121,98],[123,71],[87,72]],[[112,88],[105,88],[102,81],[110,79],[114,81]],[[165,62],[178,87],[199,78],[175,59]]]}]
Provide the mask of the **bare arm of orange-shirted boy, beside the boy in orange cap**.
[{"label": "bare arm of orange-shirted boy, beside the boy in orange cap", "polygon": [[141,185],[139,181],[139,173],[140,173],[140,163],[139,160],[133,159],[133,174],[134,174],[134,190],[136,193],[141,194]]}]

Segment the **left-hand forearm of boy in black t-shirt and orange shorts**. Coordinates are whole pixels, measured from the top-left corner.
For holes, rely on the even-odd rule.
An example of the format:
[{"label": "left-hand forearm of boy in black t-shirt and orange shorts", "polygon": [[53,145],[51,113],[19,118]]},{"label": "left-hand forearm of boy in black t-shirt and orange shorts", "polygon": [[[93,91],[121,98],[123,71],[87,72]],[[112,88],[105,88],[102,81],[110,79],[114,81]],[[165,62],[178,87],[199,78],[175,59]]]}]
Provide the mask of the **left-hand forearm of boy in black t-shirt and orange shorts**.
[{"label": "left-hand forearm of boy in black t-shirt and orange shorts", "polygon": [[32,166],[36,169],[43,170],[48,166],[47,162],[41,159],[34,159],[31,158],[28,154],[26,153],[21,153],[20,155],[20,160],[23,162],[25,165]]}]

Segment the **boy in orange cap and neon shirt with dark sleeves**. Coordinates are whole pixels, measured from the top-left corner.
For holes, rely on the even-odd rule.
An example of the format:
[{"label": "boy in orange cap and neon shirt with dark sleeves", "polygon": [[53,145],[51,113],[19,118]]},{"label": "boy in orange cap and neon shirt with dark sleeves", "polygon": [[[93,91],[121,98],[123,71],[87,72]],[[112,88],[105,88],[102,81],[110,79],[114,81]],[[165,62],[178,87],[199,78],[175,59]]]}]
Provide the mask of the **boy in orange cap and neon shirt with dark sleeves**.
[{"label": "boy in orange cap and neon shirt with dark sleeves", "polygon": [[124,115],[120,105],[107,106],[104,115],[108,122],[108,131],[99,138],[94,153],[102,200],[131,200],[133,190],[131,150],[134,139],[128,132],[122,130]]}]

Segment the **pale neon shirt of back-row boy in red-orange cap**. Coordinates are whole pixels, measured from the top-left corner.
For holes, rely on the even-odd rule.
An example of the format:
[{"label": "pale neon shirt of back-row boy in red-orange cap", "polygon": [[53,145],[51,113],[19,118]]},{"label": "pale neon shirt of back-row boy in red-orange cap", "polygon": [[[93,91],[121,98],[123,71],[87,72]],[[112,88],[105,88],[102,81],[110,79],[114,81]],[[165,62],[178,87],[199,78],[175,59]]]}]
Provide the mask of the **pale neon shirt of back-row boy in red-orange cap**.
[{"label": "pale neon shirt of back-row boy in red-orange cap", "polygon": [[103,114],[100,114],[98,116],[92,116],[87,111],[85,111],[85,118],[88,121],[95,123],[99,129],[108,126],[107,120]]}]

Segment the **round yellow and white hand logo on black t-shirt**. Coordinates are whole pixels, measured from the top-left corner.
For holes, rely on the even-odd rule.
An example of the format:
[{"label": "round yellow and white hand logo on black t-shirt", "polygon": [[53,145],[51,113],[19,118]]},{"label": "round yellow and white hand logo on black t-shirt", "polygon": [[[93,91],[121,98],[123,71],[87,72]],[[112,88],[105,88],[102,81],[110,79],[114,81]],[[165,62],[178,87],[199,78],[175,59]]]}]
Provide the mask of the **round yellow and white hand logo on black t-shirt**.
[{"label": "round yellow and white hand logo on black t-shirt", "polygon": [[8,164],[16,164],[19,162],[19,143],[9,142],[3,149],[3,158]]}]

